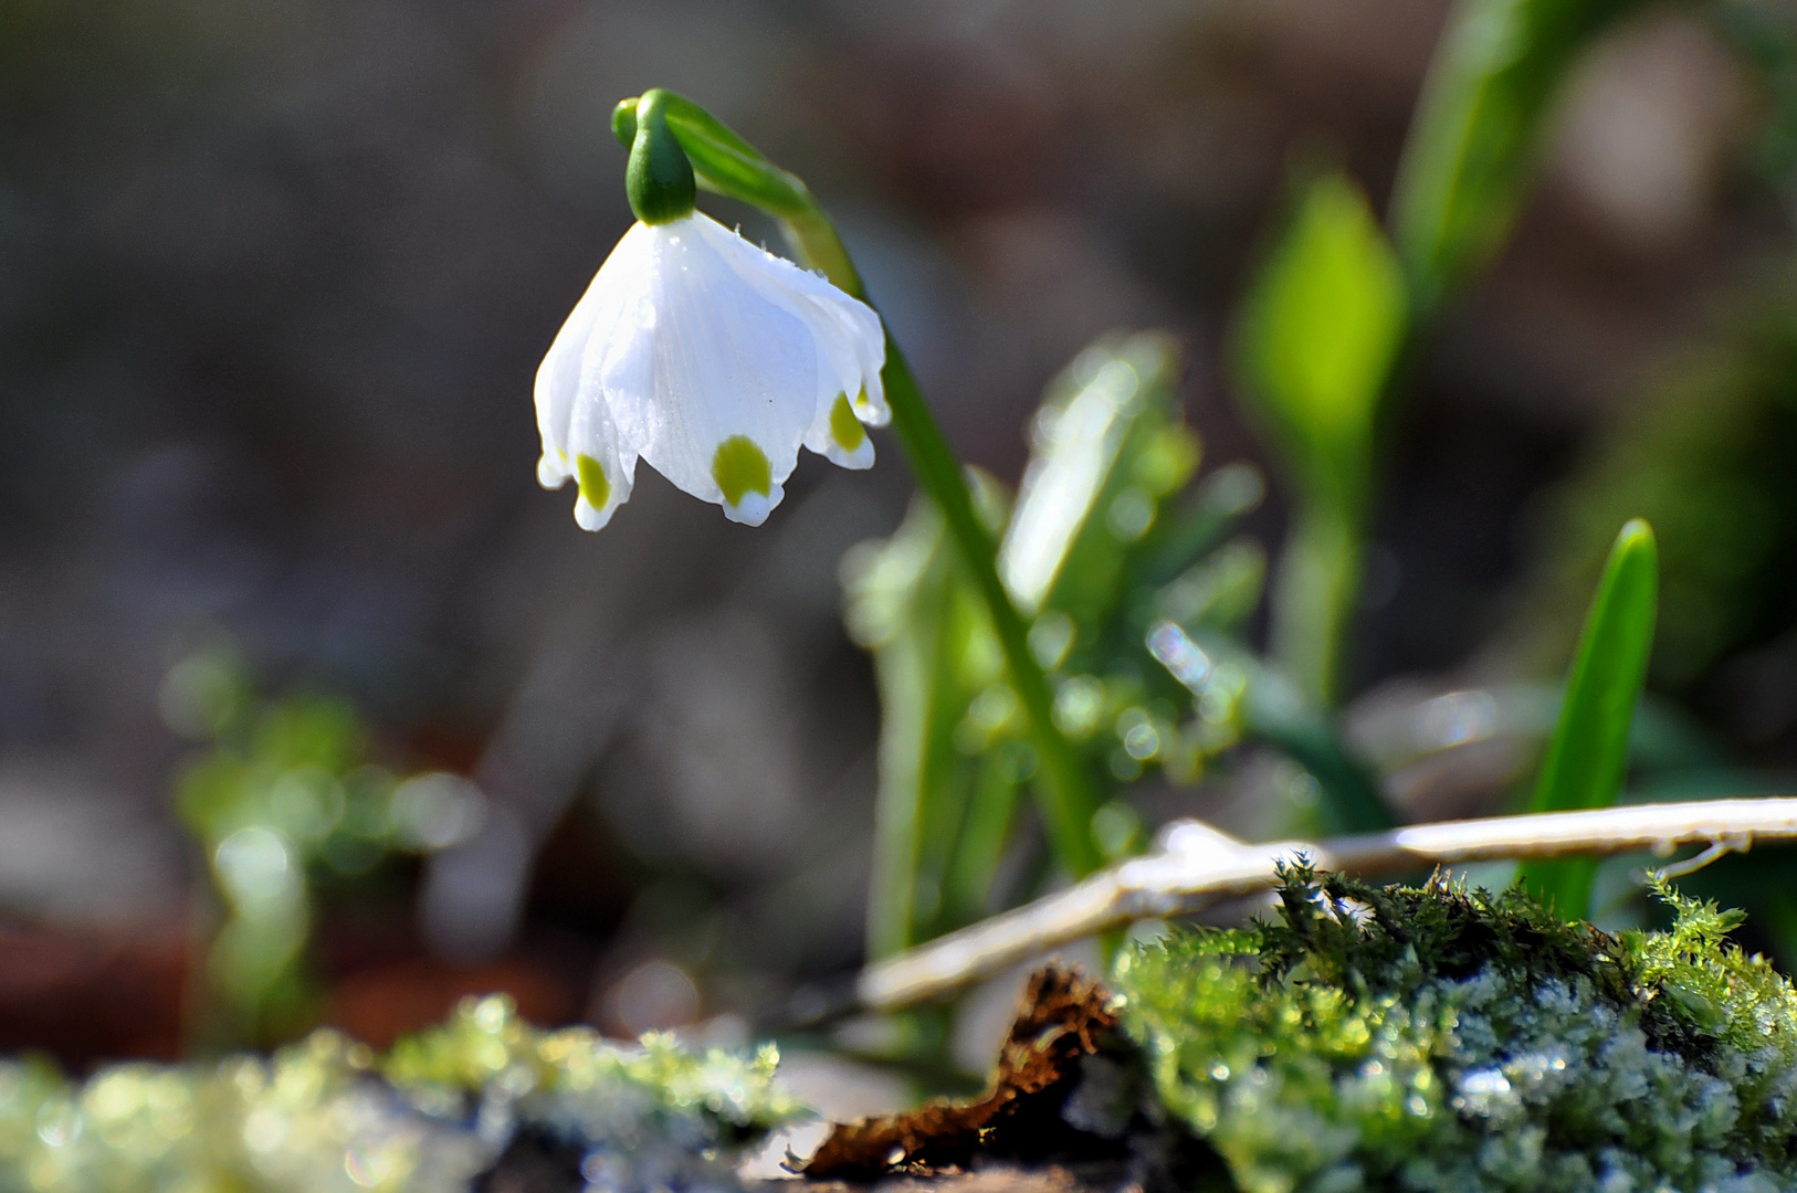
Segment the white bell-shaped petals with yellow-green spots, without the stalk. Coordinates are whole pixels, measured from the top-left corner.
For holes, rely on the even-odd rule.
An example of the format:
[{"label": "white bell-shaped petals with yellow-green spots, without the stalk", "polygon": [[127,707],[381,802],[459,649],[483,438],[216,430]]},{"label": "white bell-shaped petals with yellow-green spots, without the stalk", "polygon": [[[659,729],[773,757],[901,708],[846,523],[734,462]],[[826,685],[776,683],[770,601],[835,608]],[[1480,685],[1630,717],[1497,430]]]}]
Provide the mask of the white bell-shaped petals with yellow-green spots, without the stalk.
[{"label": "white bell-shaped petals with yellow-green spots, without the stalk", "polygon": [[537,368],[537,480],[579,485],[575,519],[611,521],[636,458],[758,526],[800,444],[873,464],[886,341],[863,302],[703,212],[638,223]]}]

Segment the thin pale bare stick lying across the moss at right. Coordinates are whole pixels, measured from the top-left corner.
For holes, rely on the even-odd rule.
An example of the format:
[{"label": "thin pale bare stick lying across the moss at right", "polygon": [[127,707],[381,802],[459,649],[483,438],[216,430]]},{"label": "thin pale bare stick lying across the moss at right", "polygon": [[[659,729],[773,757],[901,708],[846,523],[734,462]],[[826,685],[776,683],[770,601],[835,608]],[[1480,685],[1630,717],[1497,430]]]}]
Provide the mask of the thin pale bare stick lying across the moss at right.
[{"label": "thin pale bare stick lying across the moss at right", "polygon": [[1224,898],[1251,895],[1272,886],[1274,866],[1299,853],[1319,868],[1351,873],[1635,850],[1653,850],[1666,857],[1680,844],[1723,846],[1745,853],[1754,841],[1797,841],[1797,798],[1492,816],[1321,843],[1247,844],[1202,821],[1177,821],[1168,825],[1161,841],[1155,853],[875,961],[861,970],[857,1001],[868,1010],[911,1006],[1111,927],[1190,915]]}]

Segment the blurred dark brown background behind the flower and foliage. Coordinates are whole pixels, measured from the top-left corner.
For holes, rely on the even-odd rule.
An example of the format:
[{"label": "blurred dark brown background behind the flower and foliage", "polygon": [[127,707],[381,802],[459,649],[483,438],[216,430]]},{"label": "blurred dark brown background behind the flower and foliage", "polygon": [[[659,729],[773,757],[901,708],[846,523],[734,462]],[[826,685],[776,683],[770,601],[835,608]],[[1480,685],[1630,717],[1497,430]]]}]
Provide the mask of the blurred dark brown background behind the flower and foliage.
[{"label": "blurred dark brown background behind the flower and foliage", "polygon": [[[0,0],[0,1046],[174,1047],[203,870],[158,699],[219,643],[489,798],[476,839],[327,915],[338,1022],[383,1038],[500,985],[629,1033],[852,968],[877,706],[836,568],[909,480],[888,437],[872,474],[807,458],[746,530],[642,469],[598,535],[537,489],[532,372],[629,221],[611,106],[685,92],[801,174],[969,460],[1015,482],[1042,383],[1164,325],[1215,465],[1256,456],[1224,343],[1288,169],[1341,162],[1382,205],[1443,18]],[[1781,280],[1761,108],[1677,9],[1581,68],[1517,243],[1402,411],[1355,692],[1502,670],[1553,485]],[[1765,762],[1797,756],[1781,649],[1739,742]],[[1680,683],[1727,735],[1727,683]]]}]

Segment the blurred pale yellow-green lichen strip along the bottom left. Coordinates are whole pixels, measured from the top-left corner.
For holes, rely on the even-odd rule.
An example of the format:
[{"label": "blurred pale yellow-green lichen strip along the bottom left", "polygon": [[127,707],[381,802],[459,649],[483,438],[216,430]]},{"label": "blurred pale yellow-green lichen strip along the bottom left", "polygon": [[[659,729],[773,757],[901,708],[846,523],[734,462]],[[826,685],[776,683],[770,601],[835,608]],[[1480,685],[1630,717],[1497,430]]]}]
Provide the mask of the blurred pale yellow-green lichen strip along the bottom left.
[{"label": "blurred pale yellow-green lichen strip along the bottom left", "polygon": [[776,1062],[539,1031],[503,997],[385,1058],[322,1030],[268,1058],[86,1082],[0,1062],[0,1193],[451,1193],[518,1148],[595,1193],[735,1189],[739,1152],[796,1112]]}]

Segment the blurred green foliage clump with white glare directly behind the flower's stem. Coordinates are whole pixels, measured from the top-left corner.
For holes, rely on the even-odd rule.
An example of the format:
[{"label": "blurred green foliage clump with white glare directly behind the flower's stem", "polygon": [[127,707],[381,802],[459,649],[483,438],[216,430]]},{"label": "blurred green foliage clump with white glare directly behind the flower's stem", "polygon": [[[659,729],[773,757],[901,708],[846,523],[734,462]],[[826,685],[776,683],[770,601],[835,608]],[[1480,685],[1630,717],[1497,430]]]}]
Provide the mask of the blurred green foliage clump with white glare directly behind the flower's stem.
[{"label": "blurred green foliage clump with white glare directly behind the flower's stem", "polygon": [[[1118,782],[1152,767],[1190,783],[1208,753],[1235,740],[1233,704],[1182,719],[1184,694],[1152,665],[1143,636],[1163,605],[1238,618],[1260,589],[1253,548],[1217,566],[1235,521],[1260,503],[1258,476],[1218,471],[1177,499],[1199,464],[1177,381],[1179,356],[1163,336],[1087,349],[1049,386],[1017,499],[978,483],[981,516],[1003,534],[999,573],[1031,616],[1055,724],[1084,765]],[[920,499],[891,539],[857,548],[845,586],[884,710],[870,911],[870,950],[884,954],[1022,893],[994,884],[1037,756],[985,605],[933,505]],[[1103,805],[1089,830],[1105,857],[1138,846],[1129,805]]]}]

